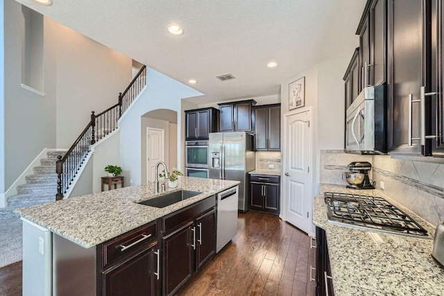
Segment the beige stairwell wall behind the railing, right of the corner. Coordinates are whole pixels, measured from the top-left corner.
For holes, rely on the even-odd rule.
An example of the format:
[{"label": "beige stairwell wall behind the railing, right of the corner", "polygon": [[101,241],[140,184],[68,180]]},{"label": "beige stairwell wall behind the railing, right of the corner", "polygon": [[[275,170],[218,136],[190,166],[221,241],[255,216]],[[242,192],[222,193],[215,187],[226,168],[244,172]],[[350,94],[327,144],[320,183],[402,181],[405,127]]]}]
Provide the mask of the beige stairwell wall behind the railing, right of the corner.
[{"label": "beige stairwell wall behind the railing, right of the corner", "polygon": [[47,21],[57,43],[57,147],[69,148],[96,114],[119,103],[131,80],[132,60],[76,31]]}]

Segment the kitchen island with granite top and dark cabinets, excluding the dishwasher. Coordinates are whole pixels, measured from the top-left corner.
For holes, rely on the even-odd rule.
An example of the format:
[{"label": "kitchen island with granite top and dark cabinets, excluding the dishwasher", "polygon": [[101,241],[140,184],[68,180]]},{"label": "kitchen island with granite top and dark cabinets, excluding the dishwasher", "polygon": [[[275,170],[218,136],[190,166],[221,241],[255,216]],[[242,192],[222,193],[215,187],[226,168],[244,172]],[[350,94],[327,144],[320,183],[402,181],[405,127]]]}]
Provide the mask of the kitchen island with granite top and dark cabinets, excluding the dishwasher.
[{"label": "kitchen island with granite top and dark cabinets, excluding the dishwasher", "polygon": [[[215,253],[216,193],[237,184],[180,177],[178,188],[162,193],[146,184],[17,209],[24,295],[36,287],[39,295],[159,295],[161,285],[163,294],[175,293]],[[179,190],[198,193],[162,208],[138,203]]]}]

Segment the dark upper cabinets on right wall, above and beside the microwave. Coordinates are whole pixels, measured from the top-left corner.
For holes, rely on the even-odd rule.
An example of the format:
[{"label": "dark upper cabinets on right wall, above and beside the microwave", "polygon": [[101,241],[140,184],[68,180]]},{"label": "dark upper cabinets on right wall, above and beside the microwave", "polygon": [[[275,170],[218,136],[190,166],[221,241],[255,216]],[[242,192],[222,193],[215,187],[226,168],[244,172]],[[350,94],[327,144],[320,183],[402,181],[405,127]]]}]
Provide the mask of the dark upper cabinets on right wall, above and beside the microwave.
[{"label": "dark upper cabinets on right wall, above and beside the microwave", "polygon": [[368,0],[359,22],[359,51],[344,76],[345,107],[356,85],[359,92],[387,85],[389,154],[444,157],[443,6],[443,0]]}]

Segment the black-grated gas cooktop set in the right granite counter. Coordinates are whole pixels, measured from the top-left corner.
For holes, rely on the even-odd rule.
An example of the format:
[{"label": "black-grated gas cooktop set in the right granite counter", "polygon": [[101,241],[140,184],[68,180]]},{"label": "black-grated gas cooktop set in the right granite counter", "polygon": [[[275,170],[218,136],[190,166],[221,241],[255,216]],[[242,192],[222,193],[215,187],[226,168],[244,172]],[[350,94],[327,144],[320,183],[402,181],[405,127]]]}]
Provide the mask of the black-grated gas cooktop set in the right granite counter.
[{"label": "black-grated gas cooktop set in the right granite counter", "polygon": [[390,202],[371,195],[324,193],[328,220],[379,232],[431,238],[421,225]]}]

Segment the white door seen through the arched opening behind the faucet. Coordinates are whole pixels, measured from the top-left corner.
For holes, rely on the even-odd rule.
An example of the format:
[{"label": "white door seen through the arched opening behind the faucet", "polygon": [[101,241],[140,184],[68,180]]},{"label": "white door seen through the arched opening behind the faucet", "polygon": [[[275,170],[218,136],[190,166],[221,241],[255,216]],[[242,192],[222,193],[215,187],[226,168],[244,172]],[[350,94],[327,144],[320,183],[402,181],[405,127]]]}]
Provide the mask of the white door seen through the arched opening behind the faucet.
[{"label": "white door seen through the arched opening behind the faucet", "polygon": [[164,162],[165,131],[146,128],[146,183],[155,180],[155,164]]}]

